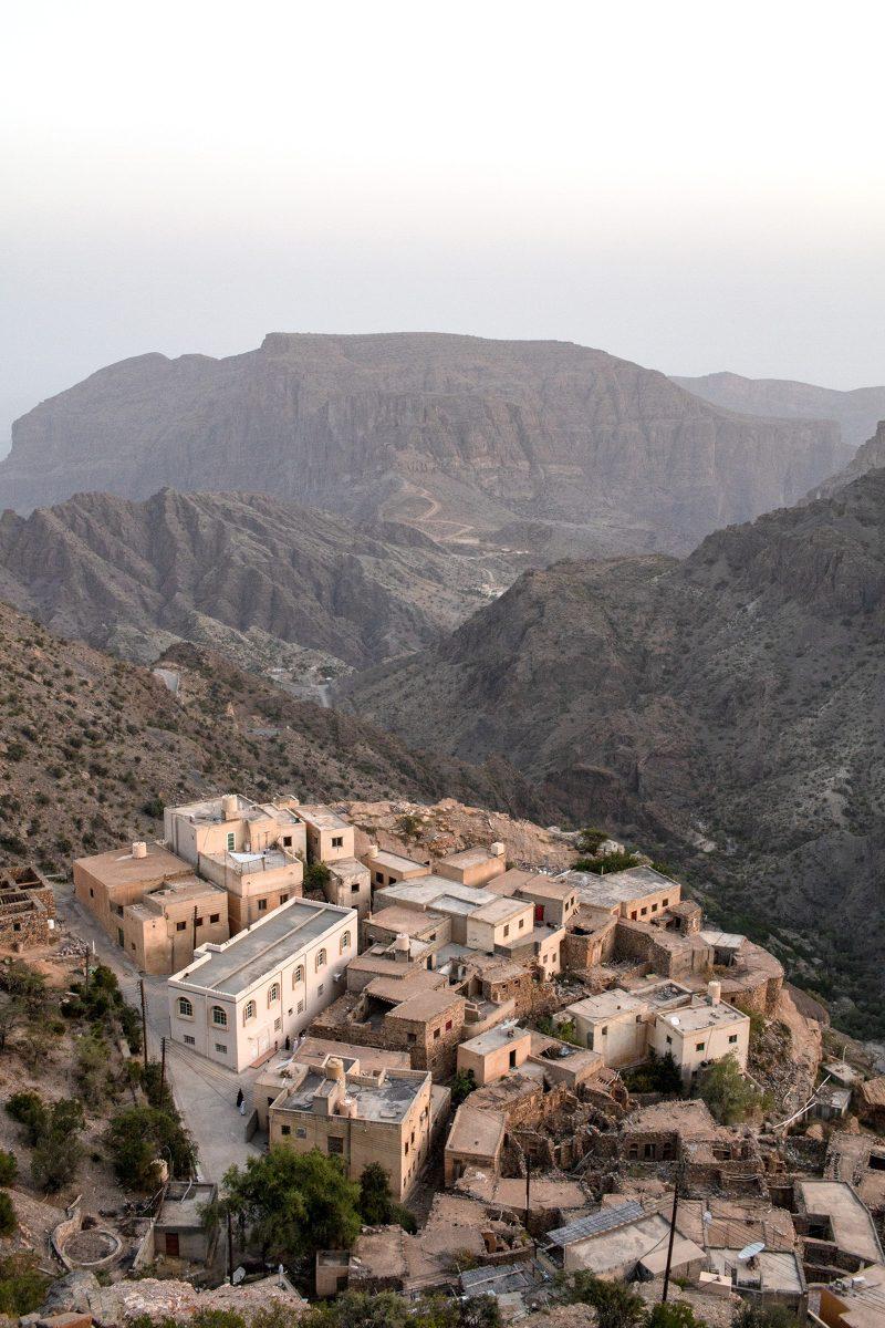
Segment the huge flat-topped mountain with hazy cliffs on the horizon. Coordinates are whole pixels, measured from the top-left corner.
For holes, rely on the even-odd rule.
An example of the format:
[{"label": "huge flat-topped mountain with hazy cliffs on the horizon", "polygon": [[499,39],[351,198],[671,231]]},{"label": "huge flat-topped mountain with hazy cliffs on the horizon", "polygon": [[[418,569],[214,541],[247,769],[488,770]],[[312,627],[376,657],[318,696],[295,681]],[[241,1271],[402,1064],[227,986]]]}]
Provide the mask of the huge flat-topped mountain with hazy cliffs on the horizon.
[{"label": "huge flat-topped mountain with hazy cliffs on the horizon", "polygon": [[527,518],[598,550],[691,547],[845,459],[833,425],[722,412],[559,341],[271,333],[214,360],[146,355],[13,426],[0,506],[86,489],[255,490],[464,540]]}]

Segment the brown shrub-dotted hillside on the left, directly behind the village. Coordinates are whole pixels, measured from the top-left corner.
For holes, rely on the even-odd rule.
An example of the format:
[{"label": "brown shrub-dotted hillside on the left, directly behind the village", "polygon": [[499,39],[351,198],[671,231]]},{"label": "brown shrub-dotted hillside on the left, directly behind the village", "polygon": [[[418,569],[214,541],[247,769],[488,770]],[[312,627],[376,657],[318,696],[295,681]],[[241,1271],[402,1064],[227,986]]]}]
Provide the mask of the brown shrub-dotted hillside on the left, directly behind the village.
[{"label": "brown shrub-dotted hillside on the left, directly behind the village", "polygon": [[417,757],[192,645],[165,663],[178,699],[149,669],[61,641],[0,603],[0,862],[65,870],[72,855],[162,834],[163,801],[224,789],[460,797],[547,817],[503,762],[474,770]]}]

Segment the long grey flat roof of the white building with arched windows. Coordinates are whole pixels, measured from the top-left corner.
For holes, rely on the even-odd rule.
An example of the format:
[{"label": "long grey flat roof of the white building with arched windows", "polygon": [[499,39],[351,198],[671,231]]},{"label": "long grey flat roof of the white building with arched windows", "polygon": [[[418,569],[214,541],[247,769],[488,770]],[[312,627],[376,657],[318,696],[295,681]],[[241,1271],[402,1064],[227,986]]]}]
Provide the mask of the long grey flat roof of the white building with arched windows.
[{"label": "long grey flat roof of the white building with arched windows", "polygon": [[[223,996],[239,996],[346,918],[353,918],[356,923],[353,908],[291,899],[249,931],[238,932],[222,948],[200,947],[195,955],[199,963],[191,961],[171,980]],[[207,957],[203,959],[203,955]]]}]

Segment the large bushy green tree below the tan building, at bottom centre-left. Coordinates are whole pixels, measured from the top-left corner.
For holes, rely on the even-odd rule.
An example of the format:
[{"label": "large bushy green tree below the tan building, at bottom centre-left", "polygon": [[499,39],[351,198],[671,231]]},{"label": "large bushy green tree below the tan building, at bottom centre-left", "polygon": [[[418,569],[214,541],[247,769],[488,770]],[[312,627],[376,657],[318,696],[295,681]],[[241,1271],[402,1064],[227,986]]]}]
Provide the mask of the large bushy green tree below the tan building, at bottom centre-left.
[{"label": "large bushy green tree below the tan building, at bottom centre-left", "polygon": [[360,1187],[318,1149],[273,1149],[224,1175],[224,1206],[260,1247],[287,1267],[317,1250],[348,1250],[360,1234]]}]

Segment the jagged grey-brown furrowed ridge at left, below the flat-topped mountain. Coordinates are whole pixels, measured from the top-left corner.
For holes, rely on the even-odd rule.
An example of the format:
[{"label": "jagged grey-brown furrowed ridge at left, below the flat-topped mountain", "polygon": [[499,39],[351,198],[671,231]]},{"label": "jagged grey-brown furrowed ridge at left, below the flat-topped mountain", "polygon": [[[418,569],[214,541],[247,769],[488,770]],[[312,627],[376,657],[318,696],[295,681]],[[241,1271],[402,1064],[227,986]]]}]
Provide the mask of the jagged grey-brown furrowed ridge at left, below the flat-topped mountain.
[{"label": "jagged grey-brown furrowed ridge at left, below the flat-topped mountain", "polygon": [[0,594],[141,661],[180,637],[251,668],[304,651],[366,665],[427,644],[483,603],[484,582],[512,575],[503,555],[455,556],[409,526],[261,494],[78,494],[0,518]]}]

